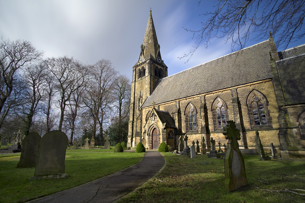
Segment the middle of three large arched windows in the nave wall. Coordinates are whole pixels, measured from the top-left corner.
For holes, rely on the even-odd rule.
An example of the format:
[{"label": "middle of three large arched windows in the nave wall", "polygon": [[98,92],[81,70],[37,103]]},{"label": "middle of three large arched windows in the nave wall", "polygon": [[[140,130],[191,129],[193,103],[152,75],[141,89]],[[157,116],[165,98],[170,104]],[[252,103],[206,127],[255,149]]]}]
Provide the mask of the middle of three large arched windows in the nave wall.
[{"label": "middle of three large arched windows in the nave wall", "polygon": [[222,129],[227,126],[228,106],[223,99],[217,97],[212,104],[214,130]]}]

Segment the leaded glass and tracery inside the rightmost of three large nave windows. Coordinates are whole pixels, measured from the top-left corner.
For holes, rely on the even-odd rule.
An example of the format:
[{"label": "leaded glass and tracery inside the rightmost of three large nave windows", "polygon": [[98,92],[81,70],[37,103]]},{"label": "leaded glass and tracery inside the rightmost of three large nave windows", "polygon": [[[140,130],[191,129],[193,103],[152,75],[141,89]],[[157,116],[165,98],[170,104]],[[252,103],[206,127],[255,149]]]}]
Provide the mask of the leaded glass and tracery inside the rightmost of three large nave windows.
[{"label": "leaded glass and tracery inside the rightmost of three large nave windows", "polygon": [[252,102],[252,110],[253,110],[253,116],[254,116],[254,124],[255,125],[267,125],[267,119],[266,119],[266,113],[265,113],[265,107],[262,100],[260,100],[260,97],[255,95],[253,96],[253,102]]}]

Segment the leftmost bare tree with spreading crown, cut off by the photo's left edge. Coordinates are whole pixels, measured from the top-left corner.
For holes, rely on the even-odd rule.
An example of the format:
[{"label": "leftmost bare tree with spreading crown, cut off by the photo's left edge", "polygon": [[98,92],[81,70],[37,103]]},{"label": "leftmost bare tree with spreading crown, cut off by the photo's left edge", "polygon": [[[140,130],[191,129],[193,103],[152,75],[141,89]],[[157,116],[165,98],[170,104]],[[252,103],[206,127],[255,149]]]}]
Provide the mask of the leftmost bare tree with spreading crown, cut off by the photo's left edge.
[{"label": "leftmost bare tree with spreading crown, cut off by the photo's left edge", "polygon": [[[13,81],[16,80],[17,71],[27,63],[40,60],[42,55],[42,51],[37,51],[26,40],[2,40],[0,43],[0,83],[3,88],[0,89],[0,114],[2,114],[5,101],[13,91]],[[4,115],[4,120],[7,114],[2,115]]]}]

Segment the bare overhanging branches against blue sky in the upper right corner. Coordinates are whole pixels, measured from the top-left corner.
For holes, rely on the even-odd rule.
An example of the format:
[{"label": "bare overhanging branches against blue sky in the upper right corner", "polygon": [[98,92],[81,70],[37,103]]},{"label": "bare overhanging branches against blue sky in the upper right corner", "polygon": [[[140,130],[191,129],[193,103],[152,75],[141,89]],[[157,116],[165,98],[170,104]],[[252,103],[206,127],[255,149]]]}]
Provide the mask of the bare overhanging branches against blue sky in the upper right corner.
[{"label": "bare overhanging branches against blue sky in the upper right corner", "polygon": [[[199,1],[200,4],[201,1]],[[189,30],[196,39],[196,46],[185,54],[192,57],[203,42],[207,47],[213,37],[231,40],[232,51],[245,47],[251,38],[262,40],[269,38],[271,31],[277,48],[288,47],[291,41],[304,37],[305,17],[304,0],[218,0],[214,12],[206,12],[201,29]],[[206,22],[205,22],[206,21]],[[251,35],[253,33],[253,35]],[[188,61],[187,60],[187,61]]]}]

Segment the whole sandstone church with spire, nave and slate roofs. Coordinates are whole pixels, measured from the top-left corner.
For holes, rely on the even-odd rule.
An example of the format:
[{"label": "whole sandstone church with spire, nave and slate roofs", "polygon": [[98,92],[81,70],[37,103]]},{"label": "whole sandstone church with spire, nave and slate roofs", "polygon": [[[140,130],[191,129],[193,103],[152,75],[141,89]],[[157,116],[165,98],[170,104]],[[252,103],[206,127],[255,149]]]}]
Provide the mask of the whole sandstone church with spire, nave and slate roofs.
[{"label": "whole sandstone church with spire, nave and slate roofs", "polygon": [[[178,150],[203,138],[227,144],[223,127],[235,121],[240,149],[255,148],[255,131],[265,148],[273,143],[284,158],[305,158],[305,44],[278,52],[270,38],[253,46],[167,75],[152,13],[132,68],[127,146],[139,142]],[[199,145],[200,146],[200,145]]]}]

